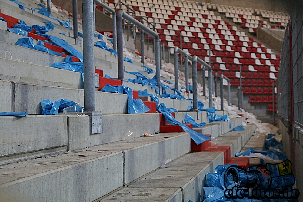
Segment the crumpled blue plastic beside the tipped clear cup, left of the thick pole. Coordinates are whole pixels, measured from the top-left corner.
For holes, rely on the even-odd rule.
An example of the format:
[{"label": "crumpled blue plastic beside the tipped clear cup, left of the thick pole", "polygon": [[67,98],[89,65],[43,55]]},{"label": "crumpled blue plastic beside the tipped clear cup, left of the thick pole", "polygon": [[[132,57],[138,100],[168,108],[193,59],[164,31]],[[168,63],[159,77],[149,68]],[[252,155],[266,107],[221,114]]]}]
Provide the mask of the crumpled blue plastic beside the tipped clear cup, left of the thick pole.
[{"label": "crumpled blue plastic beside the tipped clear cup, left of the thick pole", "polygon": [[58,112],[62,112],[62,110],[66,107],[73,106],[77,103],[70,101],[68,99],[59,99],[55,102],[52,102],[49,99],[45,99],[41,101],[42,106],[42,114],[43,115],[56,115]]}]

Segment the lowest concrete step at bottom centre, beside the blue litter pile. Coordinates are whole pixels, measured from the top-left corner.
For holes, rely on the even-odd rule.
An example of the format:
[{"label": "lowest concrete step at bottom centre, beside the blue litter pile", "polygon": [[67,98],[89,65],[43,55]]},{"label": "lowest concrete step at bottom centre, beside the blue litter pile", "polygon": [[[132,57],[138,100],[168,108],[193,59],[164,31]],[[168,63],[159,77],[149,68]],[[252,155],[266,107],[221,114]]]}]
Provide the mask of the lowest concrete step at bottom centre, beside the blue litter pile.
[{"label": "lowest concrete step at bottom centre, beside the blue litter pile", "polygon": [[[99,201],[201,201],[205,174],[220,164],[223,164],[222,152],[189,153],[173,161],[170,167],[155,170]],[[181,199],[176,197],[178,189]]]}]

